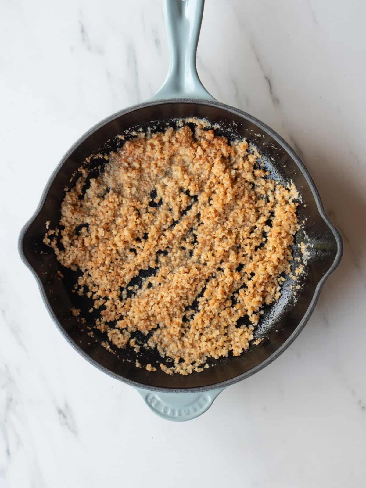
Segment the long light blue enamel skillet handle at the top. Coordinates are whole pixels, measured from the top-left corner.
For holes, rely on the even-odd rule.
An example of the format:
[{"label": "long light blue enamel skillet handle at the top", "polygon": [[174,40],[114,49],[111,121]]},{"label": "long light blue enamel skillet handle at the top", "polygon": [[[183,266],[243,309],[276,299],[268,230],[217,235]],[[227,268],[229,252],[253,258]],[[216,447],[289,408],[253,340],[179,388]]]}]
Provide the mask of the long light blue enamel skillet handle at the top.
[{"label": "long light blue enamel skillet handle at the top", "polygon": [[169,45],[169,71],[160,90],[150,99],[197,98],[215,100],[204,88],[196,68],[204,0],[164,0]]}]

